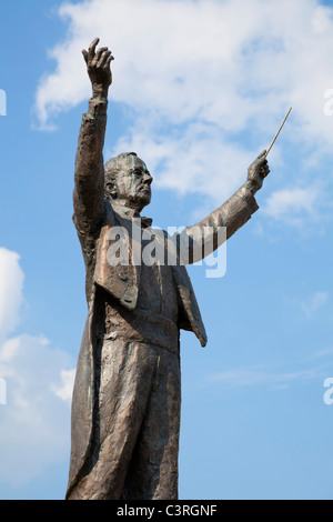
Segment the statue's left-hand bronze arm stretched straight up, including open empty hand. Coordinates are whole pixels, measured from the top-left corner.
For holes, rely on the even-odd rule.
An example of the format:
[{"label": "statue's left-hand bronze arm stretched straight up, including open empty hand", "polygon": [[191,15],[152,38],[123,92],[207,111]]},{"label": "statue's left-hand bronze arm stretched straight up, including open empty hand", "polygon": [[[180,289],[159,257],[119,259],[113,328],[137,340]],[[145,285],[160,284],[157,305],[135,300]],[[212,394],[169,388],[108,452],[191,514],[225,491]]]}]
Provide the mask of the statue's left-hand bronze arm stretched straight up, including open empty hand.
[{"label": "statue's left-hand bronze arm stretched straight up, including open empty hand", "polygon": [[92,87],[89,110],[83,114],[79,135],[74,177],[74,223],[81,243],[99,231],[103,217],[104,167],[103,147],[107,128],[108,92],[112,83],[107,47],[97,50],[97,38],[89,50],[82,51]]}]

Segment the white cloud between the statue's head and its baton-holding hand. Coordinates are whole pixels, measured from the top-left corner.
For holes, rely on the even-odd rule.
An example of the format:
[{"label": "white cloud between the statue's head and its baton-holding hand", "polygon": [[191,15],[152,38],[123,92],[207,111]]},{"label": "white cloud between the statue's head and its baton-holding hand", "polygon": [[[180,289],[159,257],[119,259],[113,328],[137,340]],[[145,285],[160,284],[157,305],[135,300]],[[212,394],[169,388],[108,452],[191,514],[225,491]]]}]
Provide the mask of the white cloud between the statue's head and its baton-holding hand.
[{"label": "white cloud between the statue's head and its baton-holding hand", "polygon": [[150,171],[159,172],[157,187],[176,187],[180,195],[200,192],[211,204],[220,205],[245,181],[251,155],[235,143],[225,144],[220,129],[192,124],[178,137],[165,133],[157,138],[142,129],[121,139],[114,152],[140,151]]}]

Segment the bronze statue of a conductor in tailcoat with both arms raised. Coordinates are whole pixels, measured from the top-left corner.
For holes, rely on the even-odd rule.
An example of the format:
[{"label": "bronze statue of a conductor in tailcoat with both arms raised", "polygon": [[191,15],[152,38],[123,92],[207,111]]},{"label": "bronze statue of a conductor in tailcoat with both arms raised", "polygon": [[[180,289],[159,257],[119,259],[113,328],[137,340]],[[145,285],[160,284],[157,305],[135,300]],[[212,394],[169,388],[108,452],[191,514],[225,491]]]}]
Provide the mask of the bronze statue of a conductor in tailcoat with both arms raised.
[{"label": "bronze statue of a conductor in tailcoat with both arms raised", "polygon": [[[108,48],[97,50],[98,43],[95,39],[82,51],[93,94],[79,137],[73,220],[85,263],[89,313],[73,392],[67,499],[175,500],[180,330],[193,331],[202,347],[206,334],[179,257],[171,265],[108,260],[114,229],[132,239],[132,223],[151,200],[152,177],[134,152],[103,164],[113,57]],[[226,227],[230,238],[258,210],[254,194],[269,172],[263,152],[249,168],[244,185],[196,225],[213,229],[214,248],[220,245],[219,228]],[[151,230],[151,221],[142,219],[141,227]],[[193,231],[189,227],[186,237],[193,239]]]}]

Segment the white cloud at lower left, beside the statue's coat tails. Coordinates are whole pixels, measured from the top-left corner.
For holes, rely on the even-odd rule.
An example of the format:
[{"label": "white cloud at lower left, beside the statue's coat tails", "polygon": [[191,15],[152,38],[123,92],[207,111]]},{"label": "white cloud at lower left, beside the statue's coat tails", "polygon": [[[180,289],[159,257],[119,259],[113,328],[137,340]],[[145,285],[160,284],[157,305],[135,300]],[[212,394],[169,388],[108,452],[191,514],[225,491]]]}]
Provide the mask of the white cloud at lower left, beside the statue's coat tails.
[{"label": "white cloud at lower left, beside the statue's coat tails", "polygon": [[0,416],[0,481],[13,486],[42,474],[69,455],[70,409],[60,389],[72,360],[50,348],[43,337],[20,335],[0,350],[0,374],[7,404]]}]

